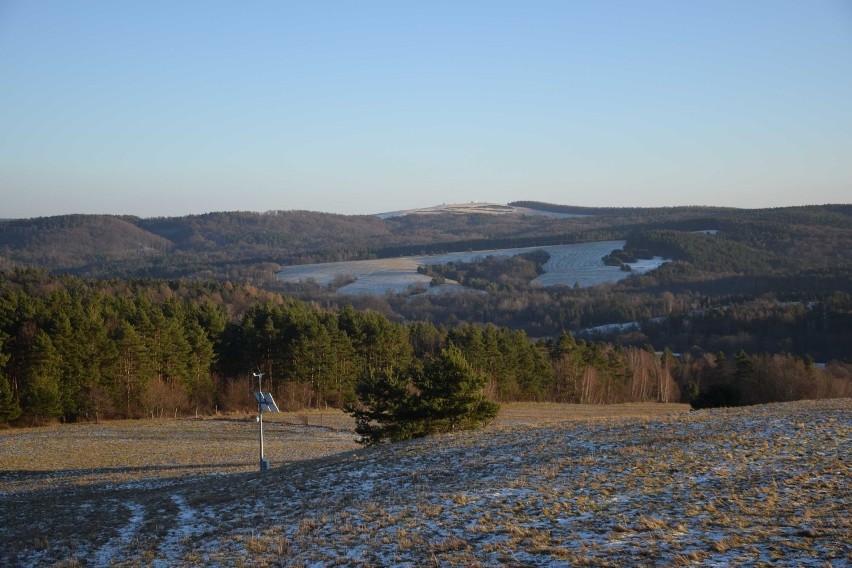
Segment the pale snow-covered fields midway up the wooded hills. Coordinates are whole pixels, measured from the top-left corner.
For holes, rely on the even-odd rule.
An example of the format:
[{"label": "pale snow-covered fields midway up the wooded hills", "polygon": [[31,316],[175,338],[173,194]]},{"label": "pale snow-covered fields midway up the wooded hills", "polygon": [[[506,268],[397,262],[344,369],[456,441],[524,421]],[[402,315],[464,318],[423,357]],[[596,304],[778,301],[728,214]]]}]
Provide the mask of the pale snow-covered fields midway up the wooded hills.
[{"label": "pale snow-covered fields midway up the wooded hills", "polygon": [[[535,250],[550,254],[544,265],[545,273],[534,280],[542,286],[566,285],[592,286],[604,282],[616,282],[631,273],[615,266],[606,266],[601,260],[615,249],[622,248],[625,241],[599,241],[571,245],[528,247],[499,250],[448,253],[441,255],[406,256],[379,260],[352,262],[328,262],[288,266],[278,273],[284,282],[314,280],[327,286],[341,276],[351,276],[355,282],[339,289],[341,294],[401,293],[412,286],[426,288],[431,279],[417,273],[418,266],[446,264],[448,262],[472,262],[487,256],[515,256]],[[634,273],[643,273],[665,262],[661,258],[642,260],[632,264]]]}]

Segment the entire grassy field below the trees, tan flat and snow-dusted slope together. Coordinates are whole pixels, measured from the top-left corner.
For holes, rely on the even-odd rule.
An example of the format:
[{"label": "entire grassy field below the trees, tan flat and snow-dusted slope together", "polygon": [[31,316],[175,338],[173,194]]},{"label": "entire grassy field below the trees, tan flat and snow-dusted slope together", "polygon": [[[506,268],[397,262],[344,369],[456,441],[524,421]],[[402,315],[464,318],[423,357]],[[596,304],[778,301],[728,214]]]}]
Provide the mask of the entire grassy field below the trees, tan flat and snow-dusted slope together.
[{"label": "entire grassy field below the trees, tan flat and snow-dusted slope together", "polygon": [[852,400],[510,405],[362,449],[338,412],[0,432],[3,566],[852,563]]}]

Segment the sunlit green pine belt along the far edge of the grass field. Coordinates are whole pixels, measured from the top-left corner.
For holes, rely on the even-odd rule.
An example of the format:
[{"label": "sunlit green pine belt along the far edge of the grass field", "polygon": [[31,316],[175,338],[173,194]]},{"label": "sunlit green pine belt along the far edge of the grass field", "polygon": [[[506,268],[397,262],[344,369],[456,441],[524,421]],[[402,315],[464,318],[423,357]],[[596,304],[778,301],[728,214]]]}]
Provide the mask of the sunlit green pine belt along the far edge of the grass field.
[{"label": "sunlit green pine belt along the far edge of the grass field", "polygon": [[[763,387],[782,375],[797,386],[761,387],[744,401],[850,394],[843,365],[751,357],[757,370],[785,369],[748,375]],[[532,340],[494,324],[392,321],[232,284],[0,274],[4,423],[251,410],[255,371],[285,408],[356,408],[377,377],[404,377],[406,388],[426,392],[441,364],[468,368],[477,377],[470,384],[496,402],[672,402],[717,384],[746,384],[746,375],[717,358],[684,359],[567,332]],[[472,396],[467,387],[459,392]]]}]

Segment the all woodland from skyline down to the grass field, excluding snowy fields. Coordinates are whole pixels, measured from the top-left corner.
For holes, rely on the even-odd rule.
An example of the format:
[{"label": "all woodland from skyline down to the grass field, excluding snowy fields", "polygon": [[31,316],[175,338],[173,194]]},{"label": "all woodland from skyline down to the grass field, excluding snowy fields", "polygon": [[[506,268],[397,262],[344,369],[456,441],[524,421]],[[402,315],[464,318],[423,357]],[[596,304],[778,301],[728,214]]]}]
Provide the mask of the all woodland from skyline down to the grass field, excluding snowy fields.
[{"label": "all woodland from skyline down to the grass field, excluding snowy fields", "polygon": [[[286,408],[345,407],[446,350],[496,402],[849,396],[852,206],[517,205],[577,216],[0,221],[0,423],[249,410],[258,370]],[[275,279],[286,262],[597,239],[626,241],[602,262],[670,261],[589,288],[533,285],[540,252],[423,267],[457,294]]]}]

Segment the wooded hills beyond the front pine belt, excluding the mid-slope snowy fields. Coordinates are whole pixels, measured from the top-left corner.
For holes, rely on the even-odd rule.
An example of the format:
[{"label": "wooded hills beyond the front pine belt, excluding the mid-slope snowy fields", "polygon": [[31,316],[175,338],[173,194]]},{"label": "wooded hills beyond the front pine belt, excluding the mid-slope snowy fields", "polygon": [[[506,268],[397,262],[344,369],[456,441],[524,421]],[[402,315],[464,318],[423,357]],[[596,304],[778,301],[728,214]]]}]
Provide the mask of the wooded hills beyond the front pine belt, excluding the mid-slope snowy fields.
[{"label": "wooded hills beyond the front pine belt, excluding the mid-slope snowy fields", "polygon": [[[488,213],[470,212],[479,205]],[[741,349],[826,363],[852,357],[850,205],[582,209],[517,202],[432,209],[387,218],[272,211],[3,221],[0,269],[10,273],[23,264],[95,279],[246,284],[333,311],[351,304],[393,321],[447,328],[493,323],[536,338],[609,329],[597,338],[696,357]],[[548,214],[527,213],[533,209]],[[372,295],[341,293],[353,274],[328,281],[278,277],[284,267],[310,263],[610,240],[627,243],[615,256],[606,254],[616,262],[653,256],[671,262],[646,273],[622,266],[629,278],[574,288],[566,284],[578,282],[571,275],[541,285],[529,266],[489,267],[486,258],[432,269],[474,275],[468,280],[477,289],[448,294],[425,290],[430,278],[416,274],[425,280],[417,290]],[[349,290],[378,289],[363,284]],[[614,323],[632,327],[600,327]]]}]

